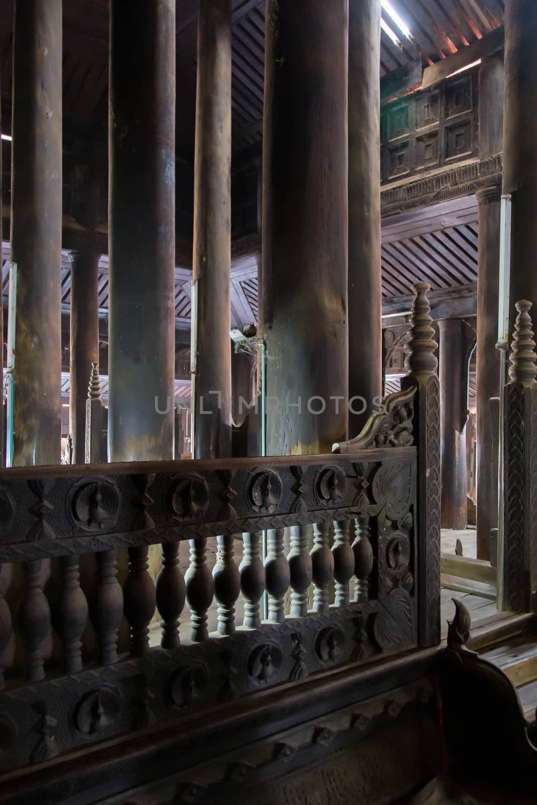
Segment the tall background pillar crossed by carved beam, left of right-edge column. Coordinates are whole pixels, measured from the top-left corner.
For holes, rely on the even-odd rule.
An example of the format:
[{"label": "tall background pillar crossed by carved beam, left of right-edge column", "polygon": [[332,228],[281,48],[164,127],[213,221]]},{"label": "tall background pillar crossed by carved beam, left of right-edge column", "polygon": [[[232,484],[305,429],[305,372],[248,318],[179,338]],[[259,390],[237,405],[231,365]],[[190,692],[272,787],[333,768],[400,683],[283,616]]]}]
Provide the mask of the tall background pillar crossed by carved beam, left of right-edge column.
[{"label": "tall background pillar crossed by carved beam, left of right-edge column", "polygon": [[[502,56],[484,58],[479,69],[479,148],[481,159],[502,152]],[[491,416],[491,398],[500,394],[498,295],[500,271],[499,184],[476,193],[479,216],[477,242],[477,559],[489,560],[490,529],[498,526],[498,473],[494,449],[498,427]]]}]

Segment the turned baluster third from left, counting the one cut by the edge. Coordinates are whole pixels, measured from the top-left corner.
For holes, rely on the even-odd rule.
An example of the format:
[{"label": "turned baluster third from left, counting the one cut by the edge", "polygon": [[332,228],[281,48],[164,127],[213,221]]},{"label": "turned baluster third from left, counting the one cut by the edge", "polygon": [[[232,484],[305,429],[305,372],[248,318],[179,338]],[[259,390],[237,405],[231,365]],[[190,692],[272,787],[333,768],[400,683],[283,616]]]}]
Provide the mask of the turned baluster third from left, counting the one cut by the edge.
[{"label": "turned baluster third from left, counting the one cut by the edge", "polygon": [[64,671],[82,668],[81,637],[88,621],[88,602],[80,584],[78,556],[61,556],[61,590],[54,608],[54,628],[61,638]]}]

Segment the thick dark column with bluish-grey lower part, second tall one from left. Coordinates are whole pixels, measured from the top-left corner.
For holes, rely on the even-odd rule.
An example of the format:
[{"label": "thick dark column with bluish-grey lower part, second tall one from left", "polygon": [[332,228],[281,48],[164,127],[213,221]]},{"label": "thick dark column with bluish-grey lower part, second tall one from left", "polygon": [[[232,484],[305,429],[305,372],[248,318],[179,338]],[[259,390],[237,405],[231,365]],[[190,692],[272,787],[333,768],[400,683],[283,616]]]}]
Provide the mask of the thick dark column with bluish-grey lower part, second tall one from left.
[{"label": "thick dark column with bluish-grey lower part, second tall one from left", "polygon": [[176,3],[110,0],[110,461],[171,459]]}]

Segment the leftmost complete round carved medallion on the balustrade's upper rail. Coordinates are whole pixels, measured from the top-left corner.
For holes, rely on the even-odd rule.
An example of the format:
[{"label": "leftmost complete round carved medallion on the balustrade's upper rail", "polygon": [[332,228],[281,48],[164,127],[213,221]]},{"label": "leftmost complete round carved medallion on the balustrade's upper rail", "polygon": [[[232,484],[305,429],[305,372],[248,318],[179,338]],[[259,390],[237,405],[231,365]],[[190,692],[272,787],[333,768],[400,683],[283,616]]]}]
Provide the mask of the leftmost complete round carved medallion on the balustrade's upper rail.
[{"label": "leftmost complete round carved medallion on the balustrade's upper rail", "polygon": [[109,531],[118,522],[121,508],[118,487],[108,478],[85,478],[68,493],[66,506],[77,529]]}]

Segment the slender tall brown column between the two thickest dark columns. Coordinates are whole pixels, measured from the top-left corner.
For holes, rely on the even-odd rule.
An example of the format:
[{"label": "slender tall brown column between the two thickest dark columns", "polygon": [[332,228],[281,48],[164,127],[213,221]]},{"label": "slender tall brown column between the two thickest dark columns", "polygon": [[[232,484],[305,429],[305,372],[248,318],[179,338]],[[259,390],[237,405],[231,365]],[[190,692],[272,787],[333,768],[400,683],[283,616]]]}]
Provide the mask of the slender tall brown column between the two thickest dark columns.
[{"label": "slender tall brown column between the two thickest dark columns", "polygon": [[194,162],[194,458],[231,455],[231,0],[200,0]]}]

